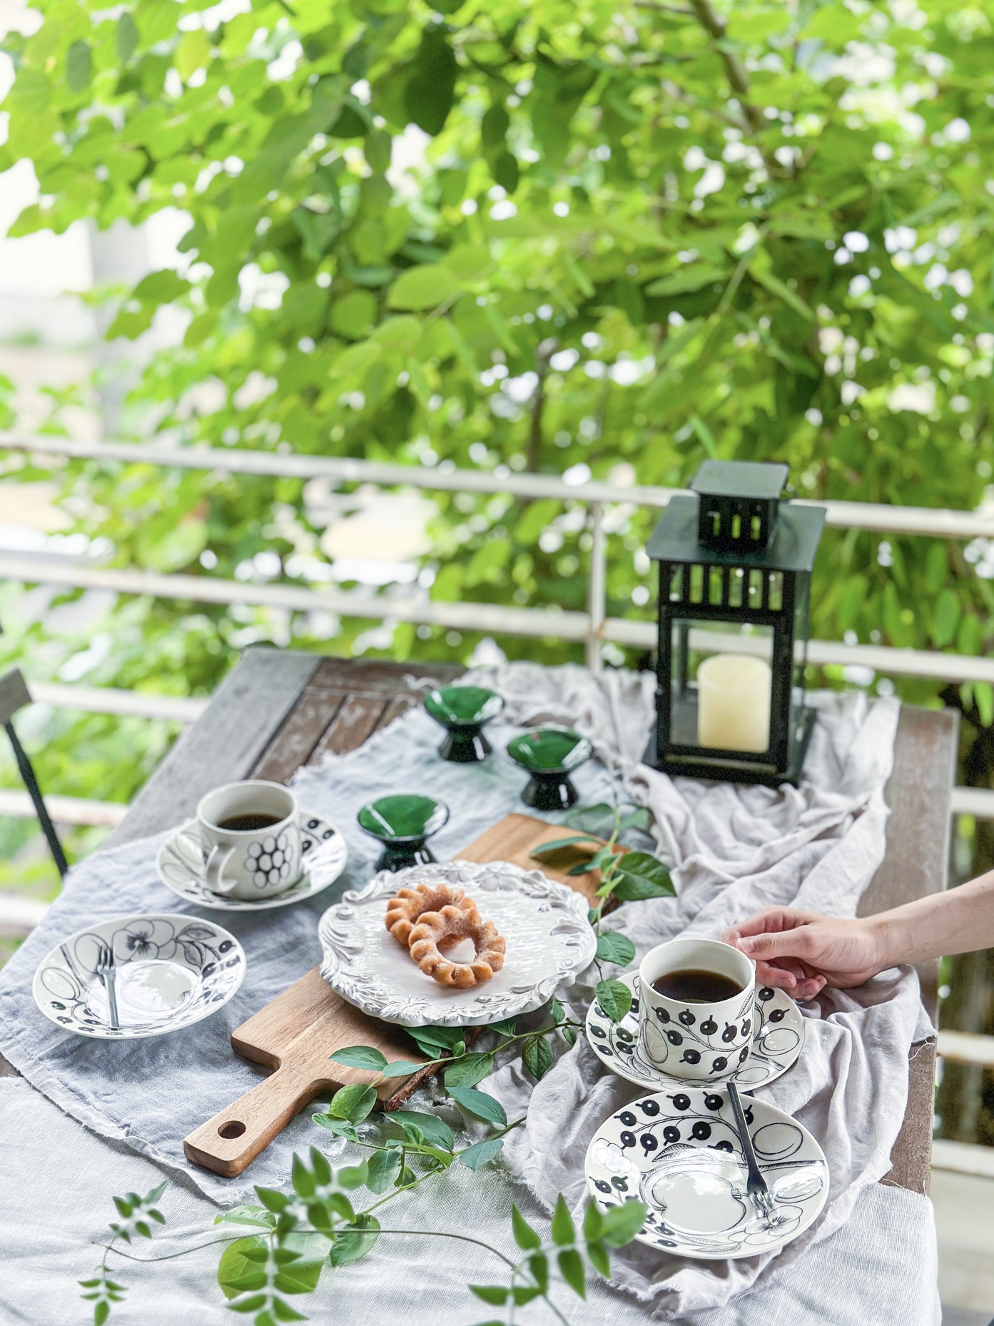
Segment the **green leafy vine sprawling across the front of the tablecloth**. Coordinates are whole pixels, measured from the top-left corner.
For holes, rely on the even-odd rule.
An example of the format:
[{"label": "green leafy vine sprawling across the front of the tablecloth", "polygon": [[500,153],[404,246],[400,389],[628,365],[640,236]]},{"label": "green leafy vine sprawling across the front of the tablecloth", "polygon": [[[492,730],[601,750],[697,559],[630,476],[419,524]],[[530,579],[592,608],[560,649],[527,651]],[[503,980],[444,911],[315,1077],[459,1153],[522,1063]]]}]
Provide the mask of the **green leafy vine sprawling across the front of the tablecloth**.
[{"label": "green leafy vine sprawling across the front of the tablecloth", "polygon": [[[484,1097],[484,1093],[472,1089],[467,1089],[465,1094]],[[628,1201],[603,1212],[591,1201],[578,1233],[561,1195],[550,1225],[551,1245],[543,1246],[538,1231],[514,1207],[512,1229],[518,1248],[525,1253],[516,1261],[498,1248],[468,1235],[383,1227],[374,1215],[375,1211],[435,1175],[444,1174],[455,1163],[470,1170],[486,1164],[497,1154],[502,1132],[522,1120],[508,1124],[505,1119],[501,1132],[494,1138],[457,1150],[453,1132],[443,1119],[414,1110],[384,1114],[375,1120],[375,1132],[364,1131],[360,1135],[359,1128],[368,1127],[372,1122],[368,1115],[374,1103],[375,1089],[346,1086],[333,1097],[327,1115],[314,1115],[317,1123],[337,1136],[372,1152],[359,1164],[333,1172],[327,1156],[311,1147],[307,1160],[300,1155],[293,1158],[292,1192],[257,1187],[258,1204],[236,1207],[217,1216],[215,1224],[248,1227],[253,1231],[250,1235],[223,1235],[211,1242],[225,1245],[217,1266],[217,1281],[228,1298],[228,1306],[233,1311],[252,1314],[254,1326],[306,1321],[288,1298],[313,1293],[325,1266],[343,1266],[366,1257],[384,1235],[452,1238],[482,1248],[504,1264],[506,1284],[469,1285],[472,1293],[493,1306],[506,1306],[509,1322],[516,1307],[537,1298],[546,1302],[558,1321],[566,1322],[550,1297],[554,1285],[553,1262],[562,1284],[584,1298],[587,1266],[602,1276],[610,1276],[610,1249],[624,1246],[641,1228],[647,1211],[641,1203]],[[497,1102],[493,1105],[500,1110]],[[504,1111],[500,1110],[500,1114],[502,1116]],[[408,1162],[419,1164],[423,1172],[415,1174]],[[111,1305],[119,1302],[125,1293],[122,1285],[110,1280],[107,1257],[111,1252],[130,1257],[115,1244],[118,1240],[130,1242],[134,1232],[151,1237],[146,1216],[164,1224],[162,1213],[154,1209],[164,1188],[166,1184],[160,1184],[146,1197],[129,1193],[127,1197],[114,1199],[118,1211],[131,1220],[126,1227],[117,1223],[111,1225],[113,1238],[105,1248],[98,1276],[81,1282],[86,1290],[83,1297],[95,1301],[95,1326],[103,1326]],[[368,1189],[378,1200],[357,1211],[350,1193],[358,1188]],[[209,1244],[197,1245],[203,1246]],[[196,1249],[130,1260],[164,1261],[193,1250]]]}]

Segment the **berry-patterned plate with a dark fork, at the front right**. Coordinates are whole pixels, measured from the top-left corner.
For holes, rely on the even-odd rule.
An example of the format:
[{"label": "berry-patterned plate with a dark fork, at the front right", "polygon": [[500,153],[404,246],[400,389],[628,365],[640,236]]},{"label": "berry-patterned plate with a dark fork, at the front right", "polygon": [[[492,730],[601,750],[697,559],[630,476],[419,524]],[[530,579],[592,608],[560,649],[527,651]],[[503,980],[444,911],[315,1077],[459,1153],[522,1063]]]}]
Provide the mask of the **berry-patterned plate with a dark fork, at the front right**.
[{"label": "berry-patterned plate with a dark fork, at the front right", "polygon": [[749,1136],[773,1193],[762,1216],[746,1193],[747,1168],[728,1091],[684,1087],[632,1101],[598,1128],[584,1174],[602,1207],[644,1201],[639,1242],[673,1257],[755,1257],[797,1238],[828,1196],[824,1152],[797,1119],[742,1101]]}]

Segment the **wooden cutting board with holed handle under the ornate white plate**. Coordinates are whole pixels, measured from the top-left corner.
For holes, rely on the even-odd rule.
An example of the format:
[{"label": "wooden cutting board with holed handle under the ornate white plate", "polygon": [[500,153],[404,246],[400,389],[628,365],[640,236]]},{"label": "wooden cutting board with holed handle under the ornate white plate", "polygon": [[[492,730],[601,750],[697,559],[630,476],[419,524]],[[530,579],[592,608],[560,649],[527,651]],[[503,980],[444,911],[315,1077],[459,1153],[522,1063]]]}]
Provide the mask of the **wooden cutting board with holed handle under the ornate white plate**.
[{"label": "wooden cutting board with holed handle under the ornate white plate", "polygon": [[[506,815],[476,842],[459,853],[463,861],[510,861],[524,870],[538,869],[531,853],[543,842],[569,834],[530,815]],[[555,853],[555,865],[542,863],[551,879],[569,884],[591,902],[600,876],[570,876],[570,866],[582,861],[579,853]],[[403,1028],[367,1017],[341,998],[321,979],[314,967],[289,989],[243,1022],[231,1036],[237,1054],[274,1071],[228,1110],[221,1110],[195,1128],[183,1142],[187,1159],[231,1179],[250,1164],[290,1119],[317,1095],[351,1082],[372,1082],[375,1073],[331,1063],[329,1054],[346,1045],[372,1045],[388,1061],[424,1062]],[[384,1109],[396,1109],[431,1075],[431,1069],[406,1079],[392,1079],[379,1089]],[[403,1085],[399,1085],[403,1083]]]}]

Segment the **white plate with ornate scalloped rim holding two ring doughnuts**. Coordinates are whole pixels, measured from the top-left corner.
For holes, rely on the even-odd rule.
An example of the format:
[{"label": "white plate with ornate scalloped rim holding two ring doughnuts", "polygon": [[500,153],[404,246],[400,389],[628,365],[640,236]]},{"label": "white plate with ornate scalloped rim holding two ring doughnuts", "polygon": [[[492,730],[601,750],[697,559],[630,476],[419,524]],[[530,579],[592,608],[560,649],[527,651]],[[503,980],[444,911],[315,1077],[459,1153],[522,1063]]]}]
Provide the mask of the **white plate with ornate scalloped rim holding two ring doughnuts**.
[{"label": "white plate with ornate scalloped rim holding two ring doughnuts", "polygon": [[[494,923],[508,952],[492,980],[447,989],[425,976],[387,931],[387,900],[398,888],[421,883],[465,890],[481,918]],[[325,953],[321,975],[329,985],[364,1013],[404,1026],[481,1026],[530,1013],[558,985],[571,985],[596,949],[582,894],[506,861],[383,870],[330,907],[318,935]],[[447,956],[465,960],[459,948]]]}]

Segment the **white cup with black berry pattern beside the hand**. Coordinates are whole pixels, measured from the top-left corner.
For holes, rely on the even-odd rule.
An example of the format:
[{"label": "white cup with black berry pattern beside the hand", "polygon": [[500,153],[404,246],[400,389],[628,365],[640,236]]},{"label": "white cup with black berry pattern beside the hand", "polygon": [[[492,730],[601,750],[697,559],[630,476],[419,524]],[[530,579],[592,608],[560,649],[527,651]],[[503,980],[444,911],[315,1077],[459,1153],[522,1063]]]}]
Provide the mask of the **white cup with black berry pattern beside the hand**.
[{"label": "white cup with black berry pattern beside the hand", "polygon": [[[652,983],[671,972],[702,971],[733,980],[740,991],[713,1004],[660,994]],[[688,1082],[720,1082],[749,1058],[755,1025],[755,968],[730,944],[672,939],[639,967],[639,1046],[661,1073]]]}]

